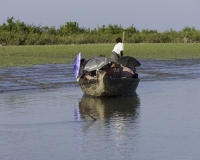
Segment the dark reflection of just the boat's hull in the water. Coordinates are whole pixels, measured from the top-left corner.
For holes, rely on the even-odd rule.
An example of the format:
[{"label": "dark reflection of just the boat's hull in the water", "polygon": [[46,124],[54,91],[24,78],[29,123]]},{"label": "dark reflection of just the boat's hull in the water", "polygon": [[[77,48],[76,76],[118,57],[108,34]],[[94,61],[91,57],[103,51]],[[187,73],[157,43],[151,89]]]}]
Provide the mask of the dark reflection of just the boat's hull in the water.
[{"label": "dark reflection of just the boat's hull in the water", "polygon": [[91,97],[83,95],[79,102],[80,119],[136,119],[139,116],[138,95],[127,97]]}]

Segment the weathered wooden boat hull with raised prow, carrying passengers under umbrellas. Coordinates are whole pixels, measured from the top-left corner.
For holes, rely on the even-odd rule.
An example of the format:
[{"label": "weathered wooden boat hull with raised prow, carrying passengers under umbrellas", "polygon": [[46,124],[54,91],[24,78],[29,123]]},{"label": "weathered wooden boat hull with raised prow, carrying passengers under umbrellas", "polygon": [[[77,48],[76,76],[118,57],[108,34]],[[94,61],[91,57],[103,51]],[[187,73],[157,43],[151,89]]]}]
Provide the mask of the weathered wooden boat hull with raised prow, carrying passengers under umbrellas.
[{"label": "weathered wooden boat hull with raised prow, carrying passengers under umbrellas", "polygon": [[97,71],[96,79],[83,79],[79,85],[90,96],[126,96],[135,94],[139,78],[110,78],[103,70]]}]

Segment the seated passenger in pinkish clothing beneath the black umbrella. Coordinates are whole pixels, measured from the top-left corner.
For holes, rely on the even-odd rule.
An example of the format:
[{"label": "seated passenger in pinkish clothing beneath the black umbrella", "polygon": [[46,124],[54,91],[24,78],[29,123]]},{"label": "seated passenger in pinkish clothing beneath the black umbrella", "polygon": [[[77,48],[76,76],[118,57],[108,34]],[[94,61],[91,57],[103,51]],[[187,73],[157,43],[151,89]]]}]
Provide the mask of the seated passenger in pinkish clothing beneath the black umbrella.
[{"label": "seated passenger in pinkish clothing beneath the black umbrella", "polygon": [[131,68],[120,65],[121,67],[118,69],[117,78],[137,78],[138,74],[133,72]]}]

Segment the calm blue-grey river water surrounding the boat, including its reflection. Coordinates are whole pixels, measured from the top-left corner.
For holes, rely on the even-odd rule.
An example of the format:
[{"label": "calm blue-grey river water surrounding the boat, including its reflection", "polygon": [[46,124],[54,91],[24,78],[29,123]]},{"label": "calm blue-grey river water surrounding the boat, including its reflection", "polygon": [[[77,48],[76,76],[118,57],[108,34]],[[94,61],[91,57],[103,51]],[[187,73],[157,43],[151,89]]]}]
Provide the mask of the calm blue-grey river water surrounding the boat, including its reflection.
[{"label": "calm blue-grey river water surrounding the boat, including its reflection", "polygon": [[200,59],[140,62],[118,98],[84,96],[71,64],[0,69],[0,160],[198,160]]}]

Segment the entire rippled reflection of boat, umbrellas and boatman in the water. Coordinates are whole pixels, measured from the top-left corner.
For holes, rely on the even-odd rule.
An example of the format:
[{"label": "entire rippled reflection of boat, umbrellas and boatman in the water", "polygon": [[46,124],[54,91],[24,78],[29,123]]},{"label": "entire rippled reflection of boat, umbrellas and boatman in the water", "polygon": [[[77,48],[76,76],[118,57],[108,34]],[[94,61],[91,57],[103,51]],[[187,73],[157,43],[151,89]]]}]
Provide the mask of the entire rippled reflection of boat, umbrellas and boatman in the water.
[{"label": "entire rippled reflection of boat, umbrellas and boatman in the water", "polygon": [[[78,150],[85,147],[85,136],[92,132],[96,134],[97,139],[100,138],[96,141],[96,145],[109,140],[111,146],[108,146],[116,152],[121,150],[121,146],[126,147],[126,145],[131,146],[134,152],[139,134],[139,107],[140,99],[137,95],[127,97],[83,95],[75,109],[75,119],[85,121],[76,128],[76,136],[79,138]],[[97,120],[94,121],[88,115]]]}]

